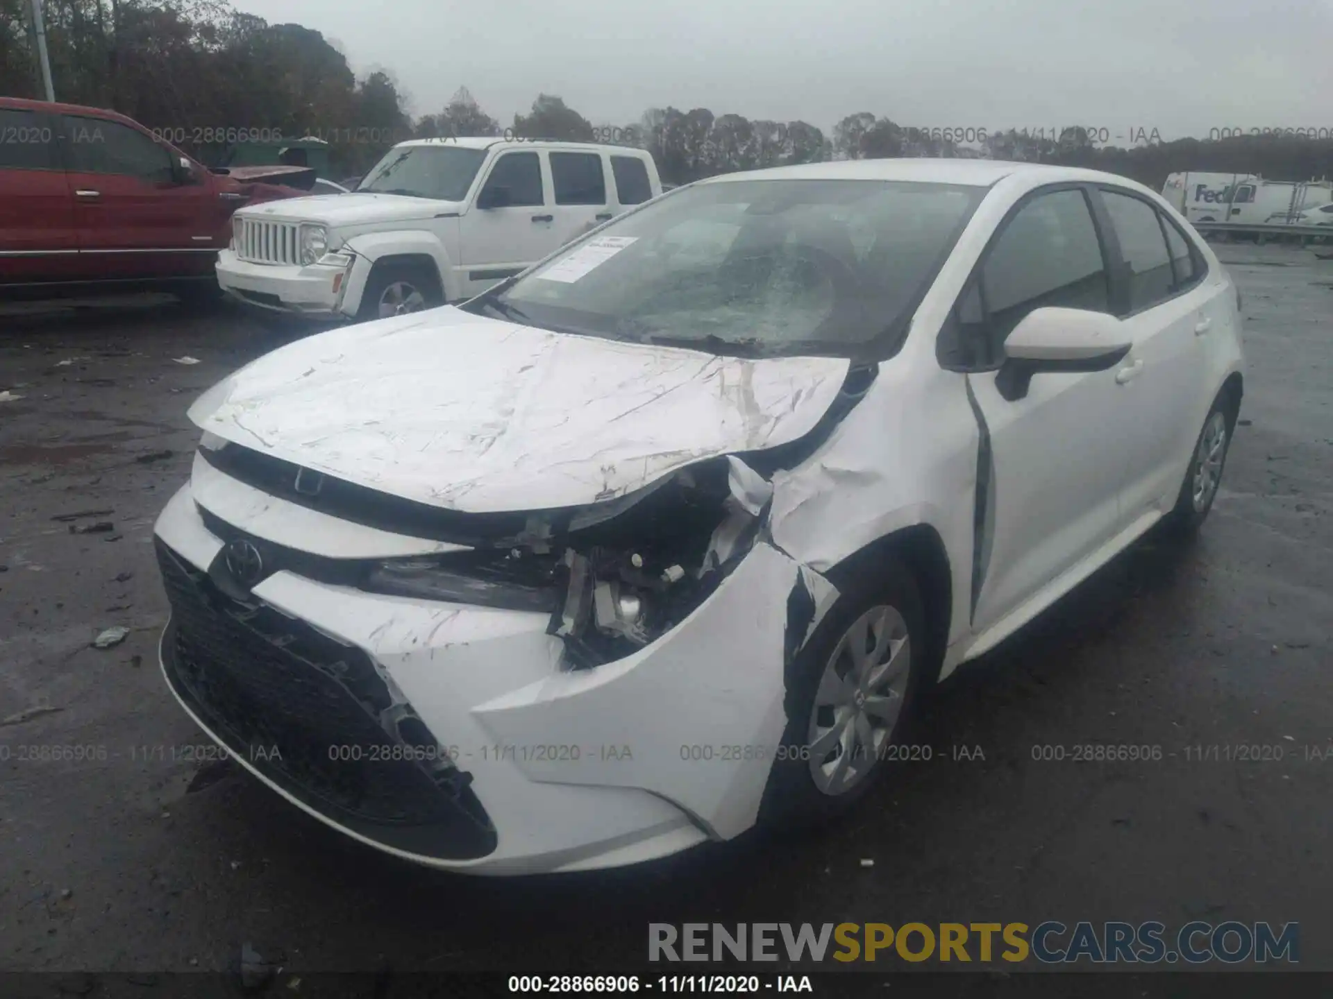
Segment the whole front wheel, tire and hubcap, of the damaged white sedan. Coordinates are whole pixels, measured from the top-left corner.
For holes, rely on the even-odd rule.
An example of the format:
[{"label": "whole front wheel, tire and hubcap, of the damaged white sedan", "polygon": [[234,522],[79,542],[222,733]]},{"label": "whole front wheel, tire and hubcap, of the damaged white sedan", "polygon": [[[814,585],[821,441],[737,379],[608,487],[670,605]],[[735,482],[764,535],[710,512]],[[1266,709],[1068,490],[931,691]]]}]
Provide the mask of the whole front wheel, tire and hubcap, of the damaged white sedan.
[{"label": "whole front wheel, tire and hubcap, of the damaged white sedan", "polygon": [[762,825],[814,825],[860,801],[898,758],[928,675],[925,611],[892,555],[844,589],[786,670],[788,725]]}]

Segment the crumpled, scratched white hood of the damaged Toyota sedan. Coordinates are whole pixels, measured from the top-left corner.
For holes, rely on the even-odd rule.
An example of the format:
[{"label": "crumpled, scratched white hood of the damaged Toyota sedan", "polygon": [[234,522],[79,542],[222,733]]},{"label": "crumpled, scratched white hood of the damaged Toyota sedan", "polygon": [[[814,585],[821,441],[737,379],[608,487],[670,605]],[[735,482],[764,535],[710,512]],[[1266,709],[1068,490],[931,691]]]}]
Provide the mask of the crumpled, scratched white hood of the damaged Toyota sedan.
[{"label": "crumpled, scratched white hood of the damaged Toyota sedan", "polygon": [[403,498],[536,510],[793,441],[828,410],[848,366],[576,337],[445,306],[289,344],[204,393],[189,417]]}]

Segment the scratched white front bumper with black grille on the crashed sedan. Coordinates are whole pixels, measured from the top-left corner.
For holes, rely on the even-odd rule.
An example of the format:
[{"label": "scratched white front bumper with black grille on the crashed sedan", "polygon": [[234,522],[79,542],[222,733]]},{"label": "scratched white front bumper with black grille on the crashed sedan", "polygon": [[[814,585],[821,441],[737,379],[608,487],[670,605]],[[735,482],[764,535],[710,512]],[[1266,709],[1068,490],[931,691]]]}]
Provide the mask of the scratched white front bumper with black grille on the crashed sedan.
[{"label": "scratched white front bumper with black grille on the crashed sedan", "polygon": [[[237,762],[347,835],[428,866],[523,874],[635,863],[754,823],[786,721],[800,585],[768,545],[656,642],[567,671],[545,614],[292,571],[259,583],[255,607],[231,606],[209,582],[223,541],[188,486],[156,534],[172,693]],[[356,698],[380,698],[379,718]],[[384,738],[403,717],[420,719],[427,738],[411,742],[443,747],[445,766],[403,759]]]}]

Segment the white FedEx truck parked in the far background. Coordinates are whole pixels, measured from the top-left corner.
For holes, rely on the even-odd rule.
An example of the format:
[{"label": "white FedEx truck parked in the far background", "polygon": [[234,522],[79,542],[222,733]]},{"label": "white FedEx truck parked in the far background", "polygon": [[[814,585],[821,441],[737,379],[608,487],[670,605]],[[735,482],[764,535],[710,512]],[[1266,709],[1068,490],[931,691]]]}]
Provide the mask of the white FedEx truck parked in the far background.
[{"label": "white FedEx truck parked in the far background", "polygon": [[1304,225],[1333,204],[1333,181],[1264,180],[1257,173],[1172,173],[1162,197],[1192,222]]}]

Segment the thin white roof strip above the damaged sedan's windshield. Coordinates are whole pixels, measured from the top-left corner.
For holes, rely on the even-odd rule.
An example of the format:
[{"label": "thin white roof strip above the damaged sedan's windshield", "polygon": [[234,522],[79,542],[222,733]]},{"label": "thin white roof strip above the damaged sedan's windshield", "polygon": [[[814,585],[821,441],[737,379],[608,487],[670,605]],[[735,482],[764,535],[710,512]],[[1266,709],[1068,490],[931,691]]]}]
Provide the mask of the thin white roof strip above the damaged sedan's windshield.
[{"label": "thin white roof strip above the damaged sedan's windshield", "polygon": [[1140,186],[1128,177],[1077,166],[1044,163],[1010,163],[1008,160],[953,160],[904,157],[893,160],[836,160],[773,166],[765,170],[724,173],[701,184],[725,184],[737,180],[896,180],[913,184],[957,184],[988,188],[1005,177],[1020,177],[1034,184],[1068,181],[1113,181]]}]

